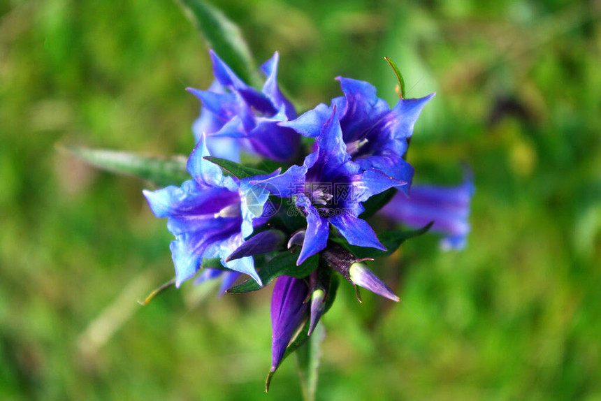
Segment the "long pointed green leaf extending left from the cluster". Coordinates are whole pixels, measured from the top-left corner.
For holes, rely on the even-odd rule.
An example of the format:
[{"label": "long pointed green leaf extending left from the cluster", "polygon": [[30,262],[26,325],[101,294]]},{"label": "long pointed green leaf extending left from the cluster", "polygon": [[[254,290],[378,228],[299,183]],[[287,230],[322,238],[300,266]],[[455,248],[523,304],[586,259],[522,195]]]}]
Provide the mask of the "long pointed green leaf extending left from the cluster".
[{"label": "long pointed green leaf extending left from the cluster", "polygon": [[186,158],[184,156],[159,158],[128,152],[71,146],[59,146],[59,149],[65,150],[97,168],[118,174],[133,175],[154,182],[159,187],[180,185],[191,178],[186,170]]}]

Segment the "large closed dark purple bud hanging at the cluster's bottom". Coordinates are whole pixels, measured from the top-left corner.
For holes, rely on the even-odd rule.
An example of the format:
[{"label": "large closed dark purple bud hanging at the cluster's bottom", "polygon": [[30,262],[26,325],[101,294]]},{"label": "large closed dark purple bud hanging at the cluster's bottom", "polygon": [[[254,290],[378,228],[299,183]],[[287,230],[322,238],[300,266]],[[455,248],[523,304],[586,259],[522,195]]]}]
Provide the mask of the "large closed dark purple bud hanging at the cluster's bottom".
[{"label": "large closed dark purple bud hanging at the cluster's bottom", "polygon": [[282,276],[271,296],[271,371],[280,365],[292,335],[307,317],[309,288],[303,279]]}]

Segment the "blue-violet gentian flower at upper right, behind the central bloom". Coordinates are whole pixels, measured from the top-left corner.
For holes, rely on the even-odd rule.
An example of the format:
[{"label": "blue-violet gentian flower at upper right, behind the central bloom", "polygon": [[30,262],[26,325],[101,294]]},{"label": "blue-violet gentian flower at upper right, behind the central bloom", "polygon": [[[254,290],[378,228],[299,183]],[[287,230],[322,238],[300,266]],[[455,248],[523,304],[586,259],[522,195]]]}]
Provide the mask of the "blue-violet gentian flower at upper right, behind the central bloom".
[{"label": "blue-violet gentian flower at upper right, behind the central bloom", "polygon": [[394,108],[376,96],[376,88],[368,82],[350,78],[340,81],[341,96],[332,100],[328,108],[323,103],[290,122],[282,122],[303,136],[317,137],[321,127],[336,108],[342,138],[347,153],[362,170],[375,168],[395,180],[407,182],[410,187],[413,168],[403,159],[408,139],[424,105],[434,96],[421,99],[400,99]]}]

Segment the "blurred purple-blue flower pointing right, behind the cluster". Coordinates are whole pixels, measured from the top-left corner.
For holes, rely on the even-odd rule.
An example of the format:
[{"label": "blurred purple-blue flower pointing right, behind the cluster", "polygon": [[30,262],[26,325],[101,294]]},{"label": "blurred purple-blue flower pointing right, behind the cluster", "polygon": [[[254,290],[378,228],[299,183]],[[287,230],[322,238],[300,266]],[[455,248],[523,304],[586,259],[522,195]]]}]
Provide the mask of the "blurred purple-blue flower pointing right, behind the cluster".
[{"label": "blurred purple-blue flower pointing right, behind the cluster", "polygon": [[413,228],[434,221],[431,231],[444,234],[442,249],[463,249],[470,233],[470,203],[474,194],[472,174],[456,187],[414,185],[409,196],[396,194],[379,213]]}]

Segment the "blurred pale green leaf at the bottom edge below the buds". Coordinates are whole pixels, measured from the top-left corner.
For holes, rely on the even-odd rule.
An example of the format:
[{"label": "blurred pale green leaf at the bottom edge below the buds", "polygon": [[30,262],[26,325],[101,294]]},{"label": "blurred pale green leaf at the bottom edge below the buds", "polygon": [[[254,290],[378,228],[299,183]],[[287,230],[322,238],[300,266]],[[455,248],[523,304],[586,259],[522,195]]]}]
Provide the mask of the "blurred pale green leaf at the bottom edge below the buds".
[{"label": "blurred pale green leaf at the bottom edge below the buds", "polygon": [[301,381],[303,398],[305,401],[315,400],[317,390],[317,370],[321,358],[321,342],[326,337],[326,330],[322,323],[317,323],[309,341],[296,350],[296,370],[298,380]]}]

